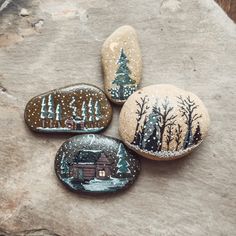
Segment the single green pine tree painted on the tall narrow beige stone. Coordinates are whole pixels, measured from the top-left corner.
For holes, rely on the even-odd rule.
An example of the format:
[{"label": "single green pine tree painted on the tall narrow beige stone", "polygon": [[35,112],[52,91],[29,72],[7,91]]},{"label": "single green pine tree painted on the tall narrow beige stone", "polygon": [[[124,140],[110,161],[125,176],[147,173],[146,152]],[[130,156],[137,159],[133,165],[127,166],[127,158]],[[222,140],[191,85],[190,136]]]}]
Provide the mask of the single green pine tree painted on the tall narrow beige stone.
[{"label": "single green pine tree painted on the tall narrow beige stone", "polygon": [[127,89],[125,88],[125,86],[135,84],[135,80],[130,78],[131,71],[127,65],[128,62],[129,60],[125,55],[124,49],[122,48],[119,60],[117,62],[119,67],[115,73],[115,79],[112,81],[112,84],[118,86],[117,98],[119,98],[120,100],[126,99],[126,96],[124,94],[128,93],[128,91],[126,91]]}]

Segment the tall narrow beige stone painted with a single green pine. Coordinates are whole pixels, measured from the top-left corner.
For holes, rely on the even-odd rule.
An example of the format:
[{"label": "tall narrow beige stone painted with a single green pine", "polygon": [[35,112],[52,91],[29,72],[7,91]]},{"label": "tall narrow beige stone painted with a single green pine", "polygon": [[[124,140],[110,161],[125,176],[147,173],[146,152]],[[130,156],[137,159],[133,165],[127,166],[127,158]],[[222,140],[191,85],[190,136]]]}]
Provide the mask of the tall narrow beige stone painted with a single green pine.
[{"label": "tall narrow beige stone painted with a single green pine", "polygon": [[118,28],[102,47],[105,92],[111,101],[123,104],[141,80],[142,59],[133,27]]}]

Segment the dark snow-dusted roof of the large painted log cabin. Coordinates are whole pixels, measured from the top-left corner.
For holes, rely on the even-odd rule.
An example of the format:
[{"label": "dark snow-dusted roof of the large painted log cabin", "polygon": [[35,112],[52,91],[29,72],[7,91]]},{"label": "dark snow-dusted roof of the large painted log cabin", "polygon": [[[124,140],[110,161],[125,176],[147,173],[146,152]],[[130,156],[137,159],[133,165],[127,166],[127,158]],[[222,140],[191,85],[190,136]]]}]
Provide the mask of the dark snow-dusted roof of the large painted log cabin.
[{"label": "dark snow-dusted roof of the large painted log cabin", "polygon": [[101,150],[80,150],[74,156],[75,163],[95,163],[101,156]]}]

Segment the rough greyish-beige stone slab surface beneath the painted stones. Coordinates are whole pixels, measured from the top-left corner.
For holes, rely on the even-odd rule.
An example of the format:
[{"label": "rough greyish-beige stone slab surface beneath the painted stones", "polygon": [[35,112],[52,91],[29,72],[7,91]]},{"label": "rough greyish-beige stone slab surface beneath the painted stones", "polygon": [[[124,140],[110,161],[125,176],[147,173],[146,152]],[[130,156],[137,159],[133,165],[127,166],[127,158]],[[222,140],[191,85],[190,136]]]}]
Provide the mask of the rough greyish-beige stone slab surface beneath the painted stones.
[{"label": "rough greyish-beige stone slab surface beneath the painted stones", "polygon": [[[236,26],[223,10],[213,0],[3,2],[10,3],[0,13],[0,235],[235,235]],[[21,8],[30,15],[19,16]],[[24,106],[56,87],[101,87],[102,43],[123,24],[139,34],[142,86],[196,93],[209,108],[209,136],[188,158],[143,160],[124,193],[74,194],[53,170],[70,136],[30,132]],[[114,113],[105,134],[118,137]]]}]

